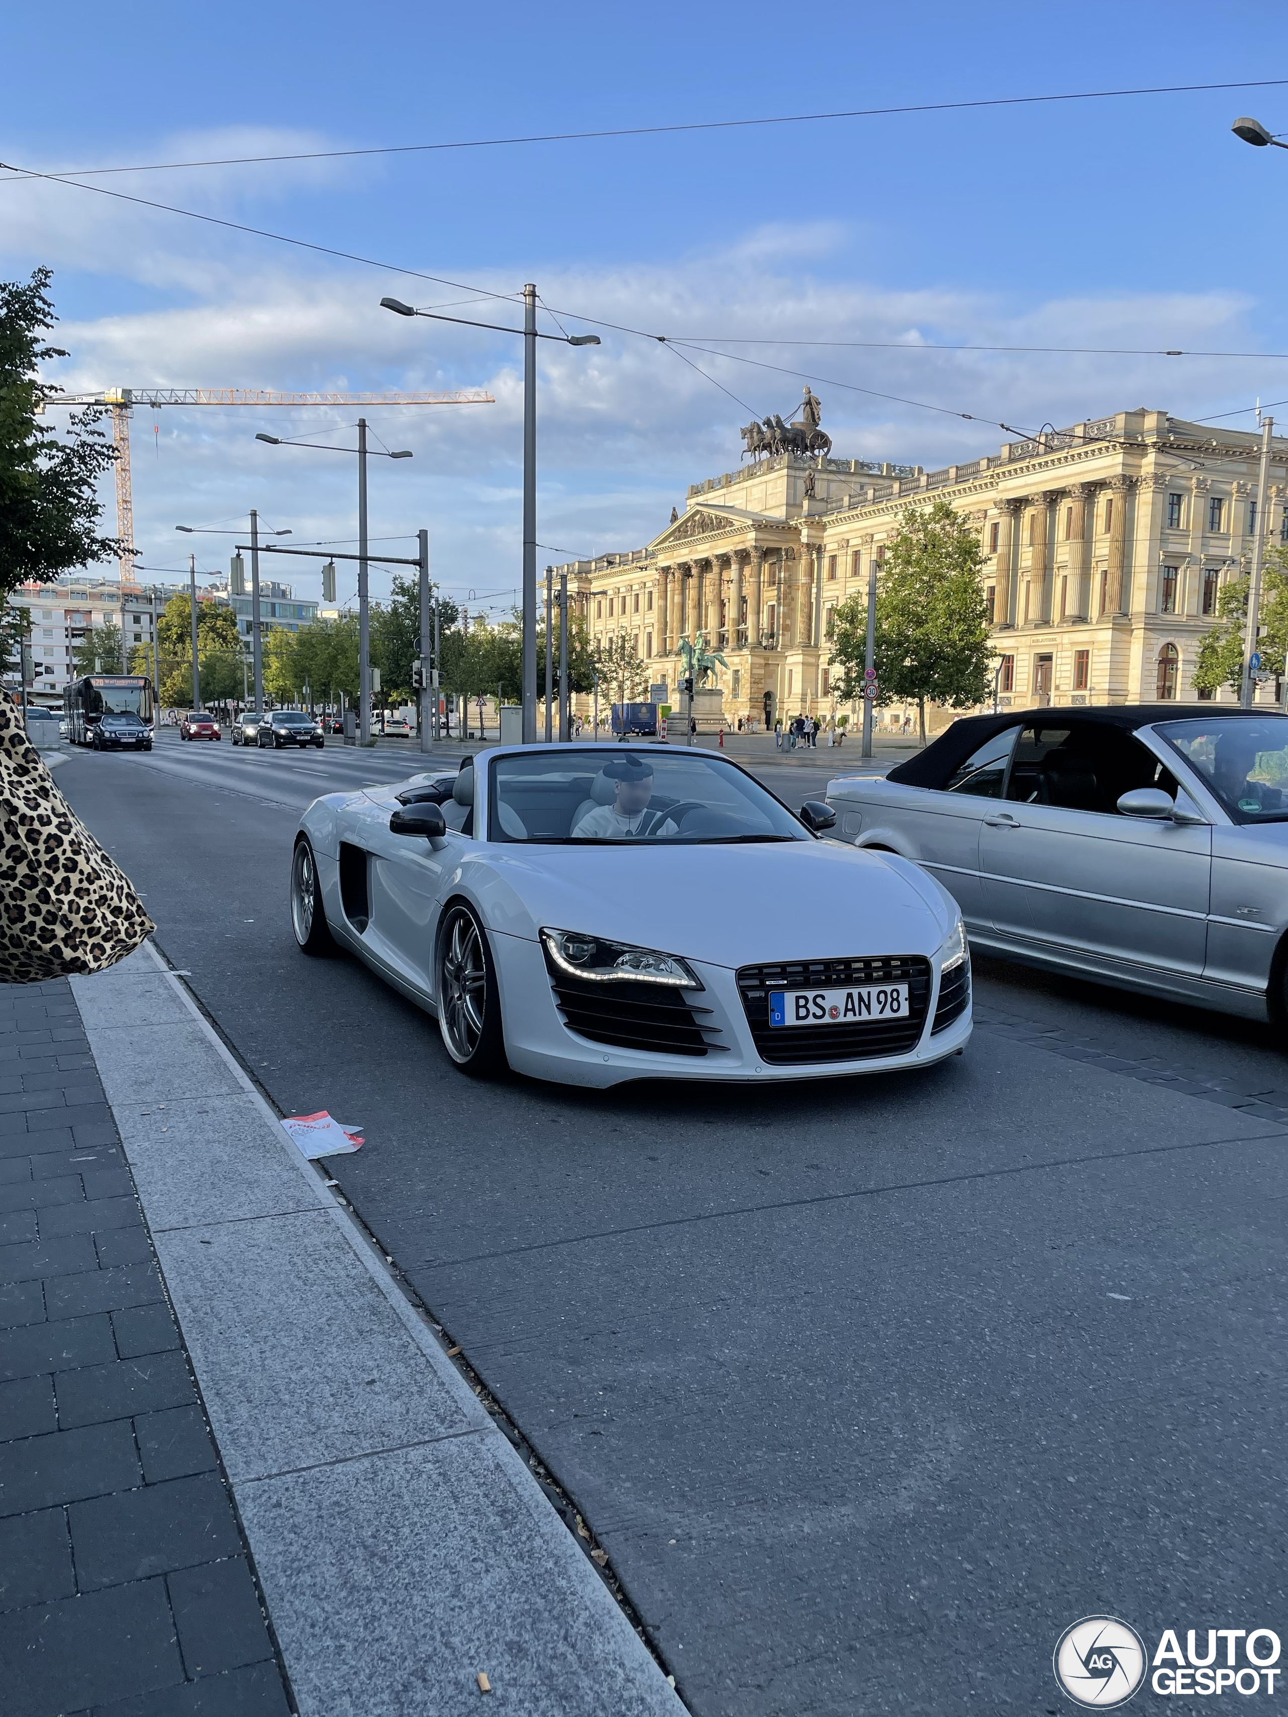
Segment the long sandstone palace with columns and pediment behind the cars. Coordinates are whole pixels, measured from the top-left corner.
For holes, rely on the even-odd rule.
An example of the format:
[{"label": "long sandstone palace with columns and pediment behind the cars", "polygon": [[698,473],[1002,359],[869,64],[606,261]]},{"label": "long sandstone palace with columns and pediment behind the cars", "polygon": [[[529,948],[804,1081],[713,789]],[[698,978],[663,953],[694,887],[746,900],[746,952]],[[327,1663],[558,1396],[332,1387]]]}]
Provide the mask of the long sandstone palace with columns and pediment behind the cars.
[{"label": "long sandstone palace with columns and pediment behind the cars", "polygon": [[[725,723],[761,723],[766,692],[781,716],[852,714],[831,689],[831,615],[866,592],[907,510],[945,500],[984,549],[1001,707],[1194,699],[1218,594],[1249,572],[1259,446],[1140,409],[943,470],[775,453],[690,486],[646,548],[556,572],[591,640],[627,634],[671,699],[677,646],[701,630],[728,661]],[[1279,544],[1288,440],[1273,450],[1267,543]],[[1278,692],[1271,680],[1261,697]]]}]

